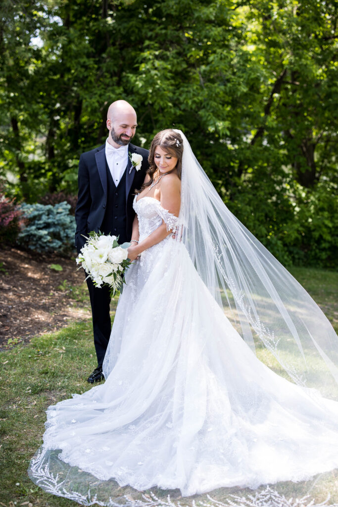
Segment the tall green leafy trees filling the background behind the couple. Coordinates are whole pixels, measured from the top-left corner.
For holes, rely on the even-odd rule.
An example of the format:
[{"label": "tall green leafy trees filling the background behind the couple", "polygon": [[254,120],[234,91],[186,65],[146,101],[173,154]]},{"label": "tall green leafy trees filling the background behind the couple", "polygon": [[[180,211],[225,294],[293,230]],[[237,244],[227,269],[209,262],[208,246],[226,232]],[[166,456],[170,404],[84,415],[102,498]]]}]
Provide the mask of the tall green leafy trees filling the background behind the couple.
[{"label": "tall green leafy trees filling the background behind the couple", "polygon": [[181,128],[284,264],[337,260],[338,7],[322,0],[3,0],[0,177],[76,193],[81,152],[130,101],[135,143]]}]

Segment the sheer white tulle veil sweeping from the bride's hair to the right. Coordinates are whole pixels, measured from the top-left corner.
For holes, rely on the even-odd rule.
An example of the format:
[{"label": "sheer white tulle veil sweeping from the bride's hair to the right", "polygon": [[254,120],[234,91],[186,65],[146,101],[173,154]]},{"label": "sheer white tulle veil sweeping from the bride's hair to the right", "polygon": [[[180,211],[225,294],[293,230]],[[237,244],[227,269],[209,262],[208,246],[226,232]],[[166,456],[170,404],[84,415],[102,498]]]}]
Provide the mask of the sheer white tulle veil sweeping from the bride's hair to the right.
[{"label": "sheer white tulle veil sweeping from the bride's hair to the right", "polygon": [[[297,384],[338,396],[338,337],[321,309],[218,196],[183,139],[182,241],[200,277],[259,358]],[[276,360],[278,363],[276,363]]]}]

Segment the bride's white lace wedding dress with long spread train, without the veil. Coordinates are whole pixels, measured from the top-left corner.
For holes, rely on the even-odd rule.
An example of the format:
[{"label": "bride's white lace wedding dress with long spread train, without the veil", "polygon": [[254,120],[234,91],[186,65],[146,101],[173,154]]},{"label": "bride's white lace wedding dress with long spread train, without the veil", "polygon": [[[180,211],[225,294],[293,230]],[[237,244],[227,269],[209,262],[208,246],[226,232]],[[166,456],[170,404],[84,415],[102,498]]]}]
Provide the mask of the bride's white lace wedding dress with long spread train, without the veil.
[{"label": "bride's white lace wedding dress with long spread train, without the veil", "polygon": [[[135,197],[134,209],[140,240],[162,220],[175,228],[155,198]],[[53,449],[79,472],[73,488],[84,471],[184,496],[338,467],[338,403],[257,359],[171,235],[127,271],[103,371],[104,384],[49,407],[30,465],[42,487]],[[63,479],[49,491],[77,499]]]}]

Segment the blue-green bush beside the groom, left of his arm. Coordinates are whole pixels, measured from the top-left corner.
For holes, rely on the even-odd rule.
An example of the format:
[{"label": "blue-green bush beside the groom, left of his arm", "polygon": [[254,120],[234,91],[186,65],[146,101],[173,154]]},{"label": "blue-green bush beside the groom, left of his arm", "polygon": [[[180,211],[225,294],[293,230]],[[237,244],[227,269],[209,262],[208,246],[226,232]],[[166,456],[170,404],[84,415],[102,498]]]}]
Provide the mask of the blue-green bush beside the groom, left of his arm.
[{"label": "blue-green bush beside the groom, left of his arm", "polygon": [[75,220],[70,205],[21,204],[26,225],[18,236],[21,245],[39,253],[56,252],[65,255],[73,249]]}]

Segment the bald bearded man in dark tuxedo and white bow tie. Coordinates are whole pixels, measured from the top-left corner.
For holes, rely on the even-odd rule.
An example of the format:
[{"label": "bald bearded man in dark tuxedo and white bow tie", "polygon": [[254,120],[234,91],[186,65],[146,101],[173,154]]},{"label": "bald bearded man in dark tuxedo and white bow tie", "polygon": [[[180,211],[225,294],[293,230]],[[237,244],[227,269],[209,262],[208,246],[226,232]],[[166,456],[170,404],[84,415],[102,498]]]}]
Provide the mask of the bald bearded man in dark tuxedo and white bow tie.
[{"label": "bald bearded man in dark tuxedo and white bow tie", "polygon": [[[79,161],[79,194],[75,211],[77,229],[75,245],[78,252],[84,246],[89,232],[119,236],[119,243],[138,240],[138,231],[132,230],[135,216],[133,194],[140,189],[148,164],[148,150],[131,144],[137,127],[134,108],[125,100],[110,104],[107,113],[107,140],[99,148],[83,153]],[[136,170],[130,156],[142,156]],[[134,237],[133,237],[134,236]],[[88,382],[102,380],[102,363],[111,331],[109,288],[97,288],[87,279],[93,316],[94,345],[97,368]]]}]

